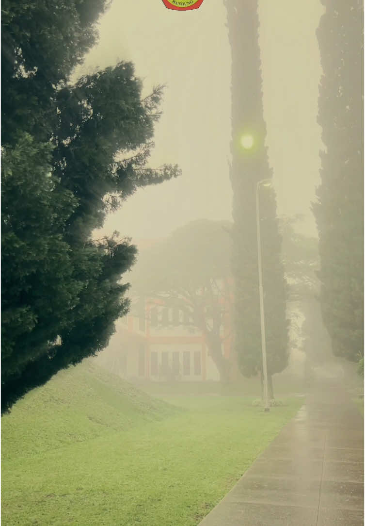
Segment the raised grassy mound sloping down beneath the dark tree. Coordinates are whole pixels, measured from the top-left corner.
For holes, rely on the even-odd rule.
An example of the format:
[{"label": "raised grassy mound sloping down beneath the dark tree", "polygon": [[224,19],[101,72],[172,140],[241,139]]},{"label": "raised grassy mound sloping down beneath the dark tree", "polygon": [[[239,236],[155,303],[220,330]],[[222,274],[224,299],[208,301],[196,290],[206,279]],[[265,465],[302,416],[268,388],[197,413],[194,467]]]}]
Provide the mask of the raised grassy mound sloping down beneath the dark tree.
[{"label": "raised grassy mound sloping down beneath the dark tree", "polygon": [[2,418],[3,459],[44,454],[161,419],[175,408],[85,360],[60,371]]}]

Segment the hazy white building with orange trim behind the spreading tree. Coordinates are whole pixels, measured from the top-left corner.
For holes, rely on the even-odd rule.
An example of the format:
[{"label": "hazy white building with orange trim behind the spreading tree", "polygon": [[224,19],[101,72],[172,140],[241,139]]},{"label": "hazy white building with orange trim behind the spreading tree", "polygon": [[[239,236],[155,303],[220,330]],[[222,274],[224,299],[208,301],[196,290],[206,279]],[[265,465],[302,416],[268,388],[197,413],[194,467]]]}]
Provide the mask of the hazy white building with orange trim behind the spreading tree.
[{"label": "hazy white building with orange trim behind the spreading tree", "polygon": [[[230,357],[230,316],[220,326],[222,353]],[[168,306],[163,299],[137,299],[130,313],[116,322],[116,333],[98,360],[129,380],[219,380],[202,330],[194,326],[189,310]]]}]

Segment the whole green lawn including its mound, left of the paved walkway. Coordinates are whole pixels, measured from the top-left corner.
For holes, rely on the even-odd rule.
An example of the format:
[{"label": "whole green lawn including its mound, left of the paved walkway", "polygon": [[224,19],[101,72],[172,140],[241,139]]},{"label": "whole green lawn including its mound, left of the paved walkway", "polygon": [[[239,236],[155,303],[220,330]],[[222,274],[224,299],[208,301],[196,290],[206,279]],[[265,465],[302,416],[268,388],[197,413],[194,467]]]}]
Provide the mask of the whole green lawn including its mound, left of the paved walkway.
[{"label": "whole green lawn including its mound, left of the paved walkway", "polygon": [[303,403],[169,400],[90,363],[29,393],[2,419],[3,523],[198,524]]}]

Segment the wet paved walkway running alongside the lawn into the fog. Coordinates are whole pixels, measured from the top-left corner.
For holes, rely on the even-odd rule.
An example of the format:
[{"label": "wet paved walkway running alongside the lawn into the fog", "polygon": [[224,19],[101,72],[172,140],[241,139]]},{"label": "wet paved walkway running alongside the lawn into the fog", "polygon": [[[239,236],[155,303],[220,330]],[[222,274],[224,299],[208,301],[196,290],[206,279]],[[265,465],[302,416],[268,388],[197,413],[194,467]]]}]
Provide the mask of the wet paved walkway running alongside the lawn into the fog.
[{"label": "wet paved walkway running alongside the lawn into the fog", "polygon": [[363,418],[326,380],[200,524],[360,526],[363,494]]}]

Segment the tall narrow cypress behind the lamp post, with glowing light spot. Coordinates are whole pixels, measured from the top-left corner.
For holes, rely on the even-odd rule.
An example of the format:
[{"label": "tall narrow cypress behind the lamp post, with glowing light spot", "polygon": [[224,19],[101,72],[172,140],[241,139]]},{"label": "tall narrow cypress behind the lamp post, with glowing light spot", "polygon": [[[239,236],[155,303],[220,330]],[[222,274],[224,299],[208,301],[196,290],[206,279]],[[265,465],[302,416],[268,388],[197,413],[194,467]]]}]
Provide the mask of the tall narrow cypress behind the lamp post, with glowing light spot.
[{"label": "tall narrow cypress behind the lamp post, with glowing light spot", "polygon": [[[272,170],[265,147],[257,2],[226,0],[225,5],[232,50],[235,346],[239,368],[249,377],[262,372],[255,190],[259,180],[272,177]],[[246,139],[242,141],[242,137]],[[274,190],[261,187],[259,201],[270,383],[288,360],[285,280]]]}]

